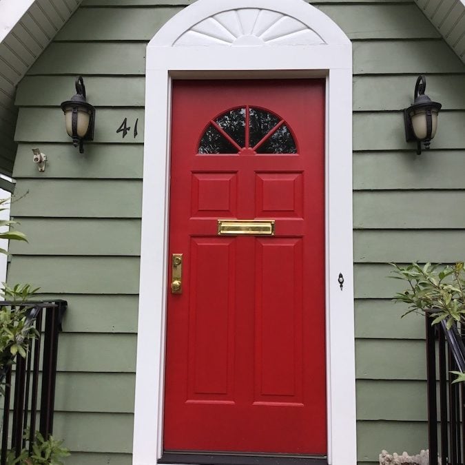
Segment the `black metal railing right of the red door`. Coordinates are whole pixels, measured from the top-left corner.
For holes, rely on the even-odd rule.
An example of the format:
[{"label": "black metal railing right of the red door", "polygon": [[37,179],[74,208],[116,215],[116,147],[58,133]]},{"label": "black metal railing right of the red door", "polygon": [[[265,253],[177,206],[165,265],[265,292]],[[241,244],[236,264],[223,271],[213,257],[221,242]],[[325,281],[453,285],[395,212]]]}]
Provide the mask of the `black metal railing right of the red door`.
[{"label": "black metal railing right of the red door", "polygon": [[[464,465],[465,382],[453,383],[451,371],[465,372],[465,328],[458,324],[447,329],[444,321],[432,326],[431,321],[426,315],[430,465]],[[441,462],[435,459],[438,456]]]}]

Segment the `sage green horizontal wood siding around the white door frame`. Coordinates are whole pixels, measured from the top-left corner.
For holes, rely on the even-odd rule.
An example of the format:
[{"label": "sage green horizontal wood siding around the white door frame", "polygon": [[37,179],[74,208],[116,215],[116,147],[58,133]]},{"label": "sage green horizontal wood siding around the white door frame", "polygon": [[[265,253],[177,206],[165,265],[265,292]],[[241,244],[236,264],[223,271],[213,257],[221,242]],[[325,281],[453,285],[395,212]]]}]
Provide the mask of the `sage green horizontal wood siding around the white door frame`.
[{"label": "sage green horizontal wood siding around the white door frame", "polygon": [[[70,302],[56,394],[56,435],[73,451],[67,465],[131,463],[145,46],[189,3],[84,0],[17,92],[12,210],[30,244],[12,244],[9,280]],[[386,263],[463,258],[465,67],[412,1],[312,3],[353,41],[358,460],[371,465],[384,448],[426,448],[424,322],[401,320],[405,309],[391,302],[401,288]],[[444,111],[433,149],[417,156],[402,108],[420,73]],[[84,155],[59,110],[75,74],[97,107]],[[116,133],[124,118],[125,138]],[[49,156],[43,173],[32,163],[37,146]]]}]

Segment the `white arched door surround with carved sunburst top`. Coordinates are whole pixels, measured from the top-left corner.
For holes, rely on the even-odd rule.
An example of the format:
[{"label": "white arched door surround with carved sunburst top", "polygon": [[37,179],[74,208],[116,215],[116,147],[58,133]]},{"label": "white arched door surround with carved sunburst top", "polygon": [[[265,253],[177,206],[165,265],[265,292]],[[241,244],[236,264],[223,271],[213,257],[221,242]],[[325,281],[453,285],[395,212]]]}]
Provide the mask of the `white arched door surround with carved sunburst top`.
[{"label": "white arched door surround with carved sunburst top", "polygon": [[328,460],[331,465],[357,462],[351,43],[304,0],[198,0],[169,20],[147,46],[133,465],[154,465],[162,453],[172,79],[260,79],[264,74],[327,80]]}]

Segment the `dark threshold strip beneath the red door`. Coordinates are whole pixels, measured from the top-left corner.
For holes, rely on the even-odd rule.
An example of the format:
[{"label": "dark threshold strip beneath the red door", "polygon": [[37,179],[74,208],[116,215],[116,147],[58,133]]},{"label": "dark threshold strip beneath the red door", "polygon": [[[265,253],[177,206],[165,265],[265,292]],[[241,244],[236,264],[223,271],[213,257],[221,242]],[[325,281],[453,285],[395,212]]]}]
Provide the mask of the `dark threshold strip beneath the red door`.
[{"label": "dark threshold strip beneath the red door", "polygon": [[328,465],[328,459],[321,455],[164,452],[162,457],[158,459],[158,463],[194,465]]}]

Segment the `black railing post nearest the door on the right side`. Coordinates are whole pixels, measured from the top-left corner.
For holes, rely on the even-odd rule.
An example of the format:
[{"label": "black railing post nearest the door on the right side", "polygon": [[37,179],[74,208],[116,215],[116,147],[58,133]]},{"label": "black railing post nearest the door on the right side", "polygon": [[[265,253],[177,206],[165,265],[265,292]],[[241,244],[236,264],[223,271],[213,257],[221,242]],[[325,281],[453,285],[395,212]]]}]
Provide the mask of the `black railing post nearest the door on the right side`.
[{"label": "black railing post nearest the door on the right side", "polygon": [[435,327],[426,313],[426,366],[428,390],[428,445],[429,463],[437,465],[437,404],[436,404],[436,347]]}]

